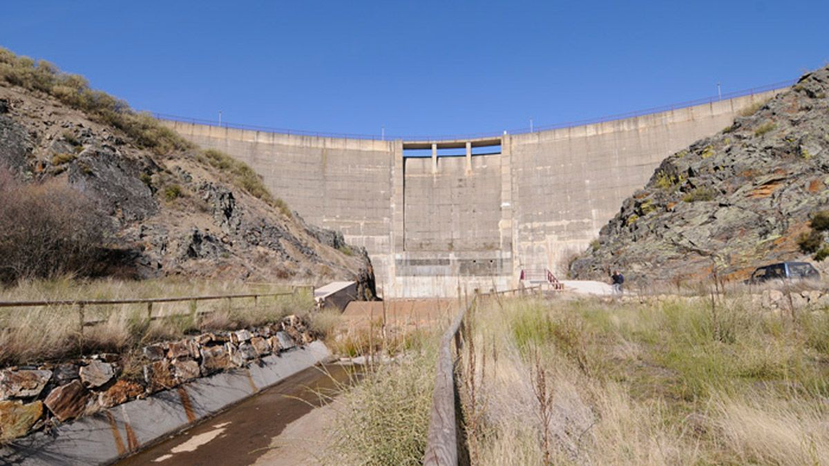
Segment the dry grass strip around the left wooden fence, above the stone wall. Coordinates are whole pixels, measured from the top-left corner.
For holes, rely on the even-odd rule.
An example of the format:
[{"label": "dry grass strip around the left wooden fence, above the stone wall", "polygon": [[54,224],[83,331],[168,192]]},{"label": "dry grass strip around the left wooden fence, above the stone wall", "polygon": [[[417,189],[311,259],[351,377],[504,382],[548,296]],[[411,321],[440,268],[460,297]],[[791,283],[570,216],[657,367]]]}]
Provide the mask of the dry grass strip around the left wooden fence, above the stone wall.
[{"label": "dry grass strip around the left wooden fence, above the stone wall", "polygon": [[[22,281],[0,289],[0,301],[125,299],[217,294],[279,293],[287,286],[249,286],[230,282],[191,282],[171,279],[142,282],[79,281],[71,278]],[[89,352],[128,352],[148,342],[180,338],[188,333],[231,330],[279,321],[288,313],[309,316],[313,300],[306,290],[288,296],[226,299],[196,303],[154,303],[153,320],[147,304],[87,306],[80,330],[77,306],[0,308],[0,366],[30,364],[75,357]]]}]

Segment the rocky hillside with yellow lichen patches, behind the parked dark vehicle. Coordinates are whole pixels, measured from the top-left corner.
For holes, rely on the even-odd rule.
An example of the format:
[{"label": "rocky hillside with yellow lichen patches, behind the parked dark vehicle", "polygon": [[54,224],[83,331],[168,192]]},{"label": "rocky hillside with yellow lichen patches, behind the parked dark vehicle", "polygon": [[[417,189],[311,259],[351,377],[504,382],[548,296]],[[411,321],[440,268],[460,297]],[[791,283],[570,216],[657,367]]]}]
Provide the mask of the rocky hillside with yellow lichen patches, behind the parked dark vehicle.
[{"label": "rocky hillside with yellow lichen patches, behind the parked dark vehicle", "polygon": [[620,269],[642,283],[741,279],[807,259],[797,240],[829,203],[829,67],[662,162],[589,250],[578,279]]}]

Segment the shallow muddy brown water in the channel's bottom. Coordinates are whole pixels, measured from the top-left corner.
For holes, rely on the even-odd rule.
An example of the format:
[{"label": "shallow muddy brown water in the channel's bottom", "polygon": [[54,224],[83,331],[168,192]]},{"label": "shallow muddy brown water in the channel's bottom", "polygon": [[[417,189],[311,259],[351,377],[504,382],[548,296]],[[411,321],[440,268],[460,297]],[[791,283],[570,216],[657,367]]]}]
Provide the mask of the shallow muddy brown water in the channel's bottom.
[{"label": "shallow muddy brown water in the channel's bottom", "polygon": [[318,392],[333,394],[337,387],[334,380],[347,382],[349,373],[354,371],[354,367],[339,365],[308,368],[116,464],[254,464],[268,453],[271,440],[286,425],[308,414],[312,405],[325,402]]}]

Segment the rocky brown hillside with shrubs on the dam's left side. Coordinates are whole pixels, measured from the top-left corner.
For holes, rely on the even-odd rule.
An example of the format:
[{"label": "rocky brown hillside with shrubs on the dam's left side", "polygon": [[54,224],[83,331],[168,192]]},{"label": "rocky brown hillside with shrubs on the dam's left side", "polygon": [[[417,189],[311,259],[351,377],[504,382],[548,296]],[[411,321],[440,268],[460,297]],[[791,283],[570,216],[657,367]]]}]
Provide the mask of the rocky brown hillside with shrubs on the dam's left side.
[{"label": "rocky brown hillside with shrubs on the dam's left side", "polygon": [[250,167],[193,147],[80,76],[0,52],[0,168],[92,200],[107,226],[98,273],[357,279],[373,294],[365,252],[306,225]]}]

